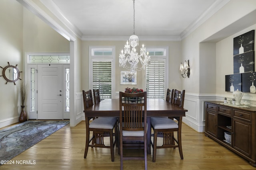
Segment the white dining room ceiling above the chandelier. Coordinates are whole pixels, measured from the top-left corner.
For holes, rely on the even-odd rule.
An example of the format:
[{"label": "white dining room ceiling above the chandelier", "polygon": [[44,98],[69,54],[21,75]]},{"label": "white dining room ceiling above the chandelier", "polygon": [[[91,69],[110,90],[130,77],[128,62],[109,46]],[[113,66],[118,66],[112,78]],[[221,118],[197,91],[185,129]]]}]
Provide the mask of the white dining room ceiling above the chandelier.
[{"label": "white dining room ceiling above the chandelier", "polygon": [[[132,0],[40,0],[82,40],[126,40],[133,34]],[[135,0],[135,34],[180,41],[229,0]]]}]

